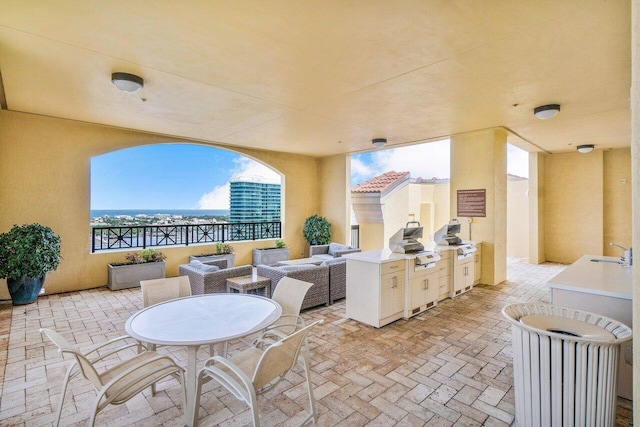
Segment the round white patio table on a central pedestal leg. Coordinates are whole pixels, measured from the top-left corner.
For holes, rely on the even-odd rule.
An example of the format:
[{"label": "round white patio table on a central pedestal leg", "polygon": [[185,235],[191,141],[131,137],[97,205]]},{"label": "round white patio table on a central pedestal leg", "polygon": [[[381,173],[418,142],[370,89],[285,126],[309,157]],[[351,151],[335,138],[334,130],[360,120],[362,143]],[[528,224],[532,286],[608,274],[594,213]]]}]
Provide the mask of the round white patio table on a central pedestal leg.
[{"label": "round white patio table on a central pedestal leg", "polygon": [[133,314],[124,328],[133,338],[150,344],[187,347],[185,424],[195,425],[196,353],[216,344],[251,335],[274,323],[280,305],[250,294],[204,294],[152,305]]}]

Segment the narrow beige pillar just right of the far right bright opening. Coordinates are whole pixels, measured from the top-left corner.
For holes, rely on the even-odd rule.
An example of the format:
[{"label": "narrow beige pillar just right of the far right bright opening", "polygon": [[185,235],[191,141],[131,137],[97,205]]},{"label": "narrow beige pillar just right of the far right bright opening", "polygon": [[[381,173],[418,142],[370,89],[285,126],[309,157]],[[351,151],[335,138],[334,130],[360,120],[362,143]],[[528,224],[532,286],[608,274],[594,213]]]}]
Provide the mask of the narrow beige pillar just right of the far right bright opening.
[{"label": "narrow beige pillar just right of the far right bright opening", "polygon": [[529,153],[529,262],[546,261],[544,253],[544,154]]}]

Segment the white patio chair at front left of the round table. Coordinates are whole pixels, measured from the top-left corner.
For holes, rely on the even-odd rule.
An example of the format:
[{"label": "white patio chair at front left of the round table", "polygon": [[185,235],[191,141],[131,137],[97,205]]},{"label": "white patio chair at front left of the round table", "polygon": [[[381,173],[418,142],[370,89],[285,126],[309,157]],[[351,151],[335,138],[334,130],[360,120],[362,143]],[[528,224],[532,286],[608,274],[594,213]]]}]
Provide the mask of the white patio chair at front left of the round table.
[{"label": "white patio chair at front left of the round table", "polygon": [[[113,350],[106,351],[100,354],[98,350],[106,347],[108,344],[120,341],[130,337],[119,337],[105,343],[91,347],[88,351],[82,352],[76,346],[67,341],[62,335],[51,329],[40,329],[41,333],[44,333],[57,347],[58,351],[64,355],[64,353],[74,356],[75,361],[69,366],[67,374],[64,378],[62,385],[62,394],[60,396],[60,403],[58,405],[58,414],[56,417],[56,426],[60,424],[60,415],[62,413],[62,404],[64,402],[65,393],[67,391],[67,385],[69,380],[81,373],[93,387],[95,388],[98,396],[89,420],[89,425],[93,426],[98,413],[103,410],[107,405],[120,405],[131,399],[136,394],[140,393],[146,387],[151,384],[155,384],[157,381],[169,376],[175,376],[180,382],[182,388],[182,406],[186,408],[185,404],[185,385],[184,385],[184,369],[176,365],[176,363],[168,356],[162,356],[155,351],[143,351],[137,353],[134,357],[120,362],[103,372],[98,372],[95,364],[104,358],[111,356],[121,350],[131,347],[137,347],[139,343],[125,344]],[[90,357],[90,354],[96,353],[95,356]],[[75,366],[78,366],[78,371],[71,375],[71,371]]]}]

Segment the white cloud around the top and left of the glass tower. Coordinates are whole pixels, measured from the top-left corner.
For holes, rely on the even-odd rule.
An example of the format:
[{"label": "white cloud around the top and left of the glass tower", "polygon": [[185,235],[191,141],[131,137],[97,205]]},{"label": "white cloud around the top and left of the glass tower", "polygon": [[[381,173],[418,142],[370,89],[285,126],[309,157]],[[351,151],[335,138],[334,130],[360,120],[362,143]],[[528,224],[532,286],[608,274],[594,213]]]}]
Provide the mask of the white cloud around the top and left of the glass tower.
[{"label": "white cloud around the top and left of the glass tower", "polygon": [[[232,178],[251,176],[261,177],[268,183],[280,184],[281,182],[277,172],[248,157],[235,159],[229,172]],[[229,182],[203,194],[198,200],[198,209],[229,209]]]}]

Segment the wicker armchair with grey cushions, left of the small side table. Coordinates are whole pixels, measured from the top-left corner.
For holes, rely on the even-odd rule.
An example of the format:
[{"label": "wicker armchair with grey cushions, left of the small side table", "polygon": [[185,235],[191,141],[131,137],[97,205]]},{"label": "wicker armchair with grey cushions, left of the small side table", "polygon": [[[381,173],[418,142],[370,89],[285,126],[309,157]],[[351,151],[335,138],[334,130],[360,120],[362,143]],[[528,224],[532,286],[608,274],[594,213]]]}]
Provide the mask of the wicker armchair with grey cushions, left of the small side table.
[{"label": "wicker armchair with grey cushions, left of the small side table", "polygon": [[[199,262],[199,261],[198,261]],[[178,267],[180,276],[189,276],[191,294],[212,294],[227,292],[227,279],[251,275],[253,268],[250,265],[226,268],[226,260],[207,261],[200,264],[204,266],[216,266],[219,270],[205,271],[198,262],[191,261]]]}]

